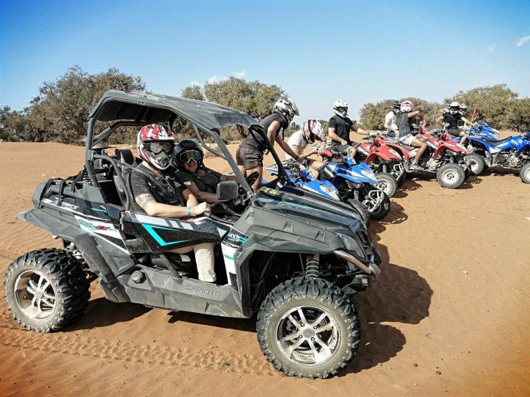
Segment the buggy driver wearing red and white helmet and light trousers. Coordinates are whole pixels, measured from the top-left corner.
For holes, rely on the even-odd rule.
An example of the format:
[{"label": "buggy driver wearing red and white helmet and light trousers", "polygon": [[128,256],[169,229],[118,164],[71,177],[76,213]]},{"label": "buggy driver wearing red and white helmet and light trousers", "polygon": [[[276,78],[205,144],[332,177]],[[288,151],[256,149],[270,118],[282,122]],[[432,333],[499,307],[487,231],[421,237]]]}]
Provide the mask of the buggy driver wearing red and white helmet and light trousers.
[{"label": "buggy driver wearing red and white helmet and light trousers", "polygon": [[[208,203],[200,203],[189,189],[179,185],[166,172],[171,164],[175,139],[158,124],[146,125],[138,132],[137,149],[143,160],[130,174],[130,190],[135,202],[149,216],[189,218],[210,211]],[[177,254],[195,252],[199,280],[213,283],[216,280],[212,243],[171,250]]]}]

